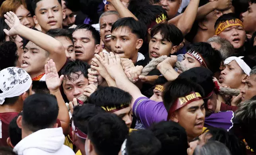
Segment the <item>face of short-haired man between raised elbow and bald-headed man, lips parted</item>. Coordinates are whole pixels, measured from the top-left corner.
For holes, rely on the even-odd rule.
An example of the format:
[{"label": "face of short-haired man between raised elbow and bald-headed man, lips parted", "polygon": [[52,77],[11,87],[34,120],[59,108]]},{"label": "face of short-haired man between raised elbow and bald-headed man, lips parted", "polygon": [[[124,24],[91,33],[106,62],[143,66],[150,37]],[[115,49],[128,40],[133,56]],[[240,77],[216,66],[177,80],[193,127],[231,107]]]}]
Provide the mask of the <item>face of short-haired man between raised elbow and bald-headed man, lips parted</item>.
[{"label": "face of short-haired man between raised elbow and bald-headed man, lips parted", "polygon": [[73,33],[76,59],[91,63],[95,53],[95,40],[91,31],[79,29]]}]

